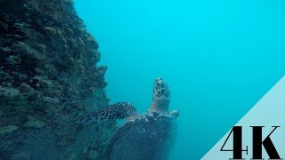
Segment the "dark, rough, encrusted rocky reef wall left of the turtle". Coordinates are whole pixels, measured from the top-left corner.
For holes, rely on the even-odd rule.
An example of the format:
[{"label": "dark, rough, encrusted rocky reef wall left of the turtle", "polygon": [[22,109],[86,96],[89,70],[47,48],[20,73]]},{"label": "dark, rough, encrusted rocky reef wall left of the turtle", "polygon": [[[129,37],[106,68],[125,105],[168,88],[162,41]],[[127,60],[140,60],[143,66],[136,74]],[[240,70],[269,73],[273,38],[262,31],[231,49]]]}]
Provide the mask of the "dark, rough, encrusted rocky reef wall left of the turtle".
[{"label": "dark, rough, encrusted rocky reef wall left of the turtle", "polygon": [[0,0],[2,159],[102,154],[116,123],[77,124],[109,102],[97,49],[71,0]]}]

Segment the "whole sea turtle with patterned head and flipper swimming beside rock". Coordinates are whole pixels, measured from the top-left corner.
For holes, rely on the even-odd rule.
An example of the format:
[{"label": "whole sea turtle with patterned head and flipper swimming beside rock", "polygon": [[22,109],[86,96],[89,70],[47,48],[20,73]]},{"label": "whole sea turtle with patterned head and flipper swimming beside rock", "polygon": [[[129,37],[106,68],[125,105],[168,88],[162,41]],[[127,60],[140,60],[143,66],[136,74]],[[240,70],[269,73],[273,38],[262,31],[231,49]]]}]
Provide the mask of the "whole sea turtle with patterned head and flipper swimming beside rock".
[{"label": "whole sea turtle with patterned head and flipper swimming beside rock", "polygon": [[144,114],[137,113],[131,103],[118,102],[102,108],[79,120],[90,123],[105,119],[123,119],[106,149],[106,159],[120,160],[164,160],[175,138],[175,119],[178,110],[168,111],[170,92],[161,78],[156,78],[153,86],[151,107]]}]

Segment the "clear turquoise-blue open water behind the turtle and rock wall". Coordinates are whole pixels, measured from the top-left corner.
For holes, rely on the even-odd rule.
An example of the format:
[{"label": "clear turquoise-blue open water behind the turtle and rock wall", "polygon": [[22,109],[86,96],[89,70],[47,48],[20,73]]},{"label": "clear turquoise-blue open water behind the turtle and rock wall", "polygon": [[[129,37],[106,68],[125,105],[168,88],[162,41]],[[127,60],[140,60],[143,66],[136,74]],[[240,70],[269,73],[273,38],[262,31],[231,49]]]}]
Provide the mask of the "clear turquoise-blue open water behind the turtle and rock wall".
[{"label": "clear turquoise-blue open water behind the turtle and rock wall", "polygon": [[111,102],[149,108],[163,77],[179,109],[171,159],[199,159],[285,74],[281,0],[75,0],[109,67]]}]

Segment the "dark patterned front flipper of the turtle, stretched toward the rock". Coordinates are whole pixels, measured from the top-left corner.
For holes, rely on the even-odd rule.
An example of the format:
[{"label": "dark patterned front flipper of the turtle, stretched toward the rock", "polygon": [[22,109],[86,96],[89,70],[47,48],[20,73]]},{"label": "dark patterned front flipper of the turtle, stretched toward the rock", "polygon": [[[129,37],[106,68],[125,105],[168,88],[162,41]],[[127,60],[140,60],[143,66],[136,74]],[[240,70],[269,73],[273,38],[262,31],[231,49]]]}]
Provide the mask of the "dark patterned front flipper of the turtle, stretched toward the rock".
[{"label": "dark patterned front flipper of the turtle, stretched toward the rock", "polygon": [[86,124],[94,121],[101,121],[107,119],[124,119],[127,116],[131,116],[137,113],[136,109],[131,103],[128,102],[118,102],[110,105],[107,108],[102,108],[96,112],[85,116],[78,121],[79,124]]}]

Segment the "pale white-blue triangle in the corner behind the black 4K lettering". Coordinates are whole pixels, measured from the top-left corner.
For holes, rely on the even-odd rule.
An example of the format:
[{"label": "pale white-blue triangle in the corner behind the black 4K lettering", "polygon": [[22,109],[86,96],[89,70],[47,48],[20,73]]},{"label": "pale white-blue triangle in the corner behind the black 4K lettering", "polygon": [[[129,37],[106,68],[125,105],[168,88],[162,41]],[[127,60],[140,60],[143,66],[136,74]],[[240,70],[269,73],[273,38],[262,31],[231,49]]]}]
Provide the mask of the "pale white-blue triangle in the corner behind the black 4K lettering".
[{"label": "pale white-blue triangle in the corner behind the black 4K lettering", "polygon": [[[242,157],[252,158],[252,128],[250,126],[265,126],[263,128],[263,139],[273,131],[272,126],[281,126],[277,128],[270,136],[273,145],[281,158],[285,157],[285,76],[273,86],[273,88],[243,116],[235,126],[242,126],[242,149],[248,146],[248,155],[242,153]],[[231,151],[220,151],[224,141],[228,137],[227,132],[202,160],[226,160],[232,158]],[[224,146],[224,149],[232,149],[232,135]],[[268,155],[263,148],[263,158],[268,159]]]}]

